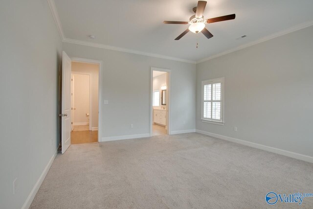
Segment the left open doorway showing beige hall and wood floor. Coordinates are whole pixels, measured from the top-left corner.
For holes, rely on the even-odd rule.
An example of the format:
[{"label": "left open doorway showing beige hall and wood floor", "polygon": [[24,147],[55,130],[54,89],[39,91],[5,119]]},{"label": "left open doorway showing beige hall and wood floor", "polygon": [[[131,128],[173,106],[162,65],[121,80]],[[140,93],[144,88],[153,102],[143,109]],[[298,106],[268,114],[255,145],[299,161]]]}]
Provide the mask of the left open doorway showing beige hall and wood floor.
[{"label": "left open doorway showing beige hall and wood floor", "polygon": [[71,144],[98,141],[99,64],[71,63]]}]

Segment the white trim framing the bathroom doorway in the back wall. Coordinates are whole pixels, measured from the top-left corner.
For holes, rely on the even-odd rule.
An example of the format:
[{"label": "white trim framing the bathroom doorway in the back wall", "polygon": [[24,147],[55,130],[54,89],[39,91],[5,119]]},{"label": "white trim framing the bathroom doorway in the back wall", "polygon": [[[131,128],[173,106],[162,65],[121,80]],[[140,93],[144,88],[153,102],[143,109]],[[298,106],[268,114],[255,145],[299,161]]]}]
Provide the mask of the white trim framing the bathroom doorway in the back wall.
[{"label": "white trim framing the bathroom doorway in the back wall", "polygon": [[171,113],[172,113],[172,99],[171,99],[171,87],[172,87],[172,80],[171,80],[171,70],[170,69],[164,69],[164,68],[155,68],[151,67],[151,72],[150,72],[150,137],[152,137],[152,124],[153,124],[153,71],[162,71],[162,72],[167,72],[168,73],[168,79],[167,79],[167,87],[166,91],[168,94],[168,105],[166,105],[166,125],[167,125],[167,134],[171,135],[172,134],[172,124],[171,124]]}]

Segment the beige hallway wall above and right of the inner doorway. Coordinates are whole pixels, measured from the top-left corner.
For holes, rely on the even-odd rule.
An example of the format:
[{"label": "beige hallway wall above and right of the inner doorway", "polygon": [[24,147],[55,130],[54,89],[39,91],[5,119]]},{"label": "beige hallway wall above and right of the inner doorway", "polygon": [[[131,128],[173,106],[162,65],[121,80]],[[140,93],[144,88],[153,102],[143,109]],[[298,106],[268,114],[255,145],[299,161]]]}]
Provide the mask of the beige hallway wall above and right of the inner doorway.
[{"label": "beige hallway wall above and right of the inner doorway", "polygon": [[[72,62],[72,73],[89,73],[91,82],[91,106],[92,106],[92,116],[91,116],[91,127],[98,127],[98,92],[99,92],[99,65],[90,63],[80,63]],[[86,114],[86,113],[85,113]],[[90,113],[89,113],[90,114]]]}]

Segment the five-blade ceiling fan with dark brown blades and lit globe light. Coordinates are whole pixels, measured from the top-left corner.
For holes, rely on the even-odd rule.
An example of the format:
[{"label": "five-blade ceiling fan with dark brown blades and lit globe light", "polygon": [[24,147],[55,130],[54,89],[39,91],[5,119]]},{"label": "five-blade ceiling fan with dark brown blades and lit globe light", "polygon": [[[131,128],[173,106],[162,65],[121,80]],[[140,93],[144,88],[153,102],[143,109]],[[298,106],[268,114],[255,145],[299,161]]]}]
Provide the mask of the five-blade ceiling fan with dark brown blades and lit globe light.
[{"label": "five-blade ceiling fan with dark brown blades and lit globe light", "polygon": [[186,35],[189,31],[193,33],[202,32],[206,38],[208,39],[212,38],[213,35],[205,28],[205,24],[233,20],[236,17],[235,14],[232,14],[232,15],[225,15],[222,17],[210,18],[210,19],[205,20],[203,17],[205,5],[206,5],[206,1],[204,0],[198,1],[198,6],[193,8],[193,11],[194,13],[196,13],[196,15],[191,16],[189,19],[189,22],[184,22],[184,21],[164,21],[163,22],[165,24],[190,24],[189,28],[185,30],[184,32],[182,32],[182,34],[180,34],[175,40],[179,40],[181,37]]}]

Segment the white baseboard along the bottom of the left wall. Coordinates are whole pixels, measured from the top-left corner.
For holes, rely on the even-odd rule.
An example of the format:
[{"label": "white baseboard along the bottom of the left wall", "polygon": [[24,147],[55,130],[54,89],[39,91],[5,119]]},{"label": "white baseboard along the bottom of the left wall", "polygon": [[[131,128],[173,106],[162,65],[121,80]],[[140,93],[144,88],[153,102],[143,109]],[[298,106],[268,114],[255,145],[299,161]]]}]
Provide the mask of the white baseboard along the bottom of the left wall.
[{"label": "white baseboard along the bottom of the left wall", "polygon": [[57,152],[54,153],[54,155],[50,158],[50,161],[48,162],[48,164],[45,166],[45,169],[43,171],[43,173],[40,175],[39,179],[37,180],[35,186],[33,187],[33,189],[30,191],[24,205],[22,206],[22,209],[29,209],[31,203],[33,202],[38,189],[40,188],[41,184],[43,183],[45,176],[47,175],[55,157],[57,156]]}]

